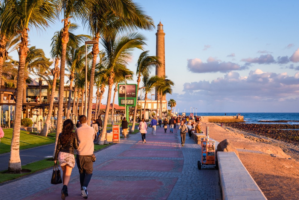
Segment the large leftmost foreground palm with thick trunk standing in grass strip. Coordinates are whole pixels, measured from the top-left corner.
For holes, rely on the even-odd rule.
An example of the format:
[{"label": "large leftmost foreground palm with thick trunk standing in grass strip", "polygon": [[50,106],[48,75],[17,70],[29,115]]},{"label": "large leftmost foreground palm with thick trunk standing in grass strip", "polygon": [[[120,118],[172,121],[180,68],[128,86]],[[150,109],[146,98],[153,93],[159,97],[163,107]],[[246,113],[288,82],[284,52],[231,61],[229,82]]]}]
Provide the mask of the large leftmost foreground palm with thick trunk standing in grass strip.
[{"label": "large leftmost foreground palm with thick trunk standing in grass strip", "polygon": [[[51,1],[27,0],[6,1],[3,12],[1,34],[20,33],[21,44],[19,46],[19,69],[17,82],[17,97],[15,121],[13,126],[13,137],[11,141],[9,171],[21,171],[21,160],[19,156],[20,126],[22,115],[22,96],[24,84],[25,62],[28,54],[28,30],[31,27],[44,29],[54,19],[54,4]],[[12,34],[13,35],[13,34]]]}]

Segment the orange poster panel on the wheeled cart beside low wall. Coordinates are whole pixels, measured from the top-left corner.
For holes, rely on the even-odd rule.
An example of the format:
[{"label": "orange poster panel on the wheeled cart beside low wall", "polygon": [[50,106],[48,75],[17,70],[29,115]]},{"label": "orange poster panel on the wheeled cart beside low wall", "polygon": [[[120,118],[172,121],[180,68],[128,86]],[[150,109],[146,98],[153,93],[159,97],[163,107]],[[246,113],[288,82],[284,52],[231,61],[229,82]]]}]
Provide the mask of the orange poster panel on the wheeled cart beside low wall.
[{"label": "orange poster panel on the wheeled cart beside low wall", "polygon": [[215,166],[215,141],[202,142],[202,166]]}]

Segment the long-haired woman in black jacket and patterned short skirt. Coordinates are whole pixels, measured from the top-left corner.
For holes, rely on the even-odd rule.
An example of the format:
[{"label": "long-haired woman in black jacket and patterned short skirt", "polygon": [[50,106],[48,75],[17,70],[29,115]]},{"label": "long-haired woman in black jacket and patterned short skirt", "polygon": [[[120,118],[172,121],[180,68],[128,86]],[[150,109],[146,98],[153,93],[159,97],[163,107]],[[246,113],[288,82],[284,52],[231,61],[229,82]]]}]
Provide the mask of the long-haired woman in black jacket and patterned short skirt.
[{"label": "long-haired woman in black jacket and patterned short skirt", "polygon": [[63,122],[62,132],[58,136],[54,163],[59,161],[62,169],[63,187],[61,190],[61,199],[68,196],[68,183],[70,181],[72,169],[75,166],[74,149],[78,148],[77,138],[75,137],[74,124],[71,119]]}]

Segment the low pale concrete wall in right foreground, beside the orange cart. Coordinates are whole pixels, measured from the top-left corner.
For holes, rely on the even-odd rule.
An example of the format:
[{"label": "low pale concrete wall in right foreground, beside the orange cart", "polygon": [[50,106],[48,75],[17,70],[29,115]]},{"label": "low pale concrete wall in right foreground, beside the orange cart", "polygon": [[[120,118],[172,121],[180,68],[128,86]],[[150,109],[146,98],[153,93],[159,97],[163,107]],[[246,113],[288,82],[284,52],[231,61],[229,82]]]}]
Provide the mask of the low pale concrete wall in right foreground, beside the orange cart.
[{"label": "low pale concrete wall in right foreground, beside the orange cart", "polygon": [[217,152],[222,199],[267,199],[235,152]]}]

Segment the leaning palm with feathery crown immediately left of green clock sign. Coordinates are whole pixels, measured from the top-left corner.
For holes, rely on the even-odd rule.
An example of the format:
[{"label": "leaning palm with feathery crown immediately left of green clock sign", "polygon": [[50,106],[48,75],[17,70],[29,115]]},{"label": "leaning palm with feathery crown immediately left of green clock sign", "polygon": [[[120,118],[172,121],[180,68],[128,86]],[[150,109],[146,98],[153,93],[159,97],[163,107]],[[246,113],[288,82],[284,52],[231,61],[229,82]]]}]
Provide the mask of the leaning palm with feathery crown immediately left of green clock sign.
[{"label": "leaning palm with feathery crown immediately left of green clock sign", "polygon": [[105,56],[107,57],[107,69],[110,71],[108,77],[108,96],[106,104],[106,114],[102,136],[99,144],[104,144],[106,138],[106,128],[108,123],[109,104],[111,101],[112,85],[114,84],[114,68],[118,65],[127,65],[132,57],[132,50],[135,48],[142,49],[145,45],[145,37],[139,33],[131,33],[126,36],[120,36],[115,31],[114,36],[103,35],[101,44],[104,46]]}]

